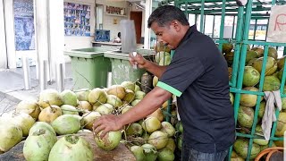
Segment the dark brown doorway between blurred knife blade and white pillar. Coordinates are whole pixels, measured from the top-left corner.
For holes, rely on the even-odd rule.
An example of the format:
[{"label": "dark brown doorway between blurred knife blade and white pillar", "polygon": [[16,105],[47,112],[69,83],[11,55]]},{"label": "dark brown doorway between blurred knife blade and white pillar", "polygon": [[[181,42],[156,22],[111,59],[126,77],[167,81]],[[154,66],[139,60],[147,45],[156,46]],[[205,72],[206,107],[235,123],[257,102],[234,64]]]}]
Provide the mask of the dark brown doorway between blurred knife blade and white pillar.
[{"label": "dark brown doorway between blurred knife blade and white pillar", "polygon": [[130,12],[130,20],[134,21],[136,30],[136,42],[141,43],[142,12]]}]

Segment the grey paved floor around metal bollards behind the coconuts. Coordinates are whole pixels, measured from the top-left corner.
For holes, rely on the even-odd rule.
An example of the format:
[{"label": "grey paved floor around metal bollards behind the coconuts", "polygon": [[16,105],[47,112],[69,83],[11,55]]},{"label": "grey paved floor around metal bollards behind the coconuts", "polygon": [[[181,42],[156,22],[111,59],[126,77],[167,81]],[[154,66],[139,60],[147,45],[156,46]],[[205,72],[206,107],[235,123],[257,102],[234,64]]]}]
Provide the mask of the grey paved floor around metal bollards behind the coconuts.
[{"label": "grey paved floor around metal bollards behind the coconuts", "polygon": [[[72,89],[71,64],[65,65],[64,89]],[[23,72],[21,68],[0,71],[0,114],[11,111],[21,101],[38,99],[40,92],[39,83],[36,79],[36,67],[30,67],[31,89],[24,89]],[[47,85],[46,89],[56,89],[56,83]]]}]

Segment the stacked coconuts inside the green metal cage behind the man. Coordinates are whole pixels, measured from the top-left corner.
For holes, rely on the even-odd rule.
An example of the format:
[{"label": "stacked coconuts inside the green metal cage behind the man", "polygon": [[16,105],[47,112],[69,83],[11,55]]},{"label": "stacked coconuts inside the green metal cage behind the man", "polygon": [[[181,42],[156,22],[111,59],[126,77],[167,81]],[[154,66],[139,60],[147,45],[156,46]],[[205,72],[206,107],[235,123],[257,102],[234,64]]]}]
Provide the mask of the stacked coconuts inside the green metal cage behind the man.
[{"label": "stacked coconuts inside the green metal cage behind the man", "polygon": [[[231,43],[223,44],[223,55],[229,65],[229,79],[231,80],[232,63],[233,63],[233,48]],[[265,62],[265,72],[262,71],[263,63]],[[244,137],[238,137],[233,144],[233,151],[231,154],[232,160],[245,160],[247,156],[249,159],[254,159],[257,154],[270,147],[270,141],[265,140],[263,130],[261,128],[261,120],[265,114],[266,101],[264,97],[257,103],[257,95],[259,88],[262,91],[274,91],[279,90],[282,85],[282,74],[284,68],[285,57],[278,57],[278,53],[275,47],[268,48],[267,56],[264,55],[264,47],[250,48],[248,45],[248,51],[246,55],[246,64],[244,66],[242,90],[257,92],[257,94],[245,94],[240,95],[240,106],[238,110],[237,130],[243,134],[251,134],[252,127],[254,125],[255,112],[258,108],[257,124],[255,124],[255,139],[253,140],[251,152],[248,155],[249,139]],[[262,78],[262,75],[265,75]],[[260,81],[264,79],[264,83],[260,84]],[[262,87],[259,87],[262,86]],[[284,88],[283,93],[286,89]],[[230,93],[231,104],[233,106],[234,96]],[[277,127],[273,129],[275,137],[282,137],[284,131],[286,131],[286,98],[282,97],[282,111],[277,118]],[[273,141],[272,147],[283,146],[282,141]]]}]

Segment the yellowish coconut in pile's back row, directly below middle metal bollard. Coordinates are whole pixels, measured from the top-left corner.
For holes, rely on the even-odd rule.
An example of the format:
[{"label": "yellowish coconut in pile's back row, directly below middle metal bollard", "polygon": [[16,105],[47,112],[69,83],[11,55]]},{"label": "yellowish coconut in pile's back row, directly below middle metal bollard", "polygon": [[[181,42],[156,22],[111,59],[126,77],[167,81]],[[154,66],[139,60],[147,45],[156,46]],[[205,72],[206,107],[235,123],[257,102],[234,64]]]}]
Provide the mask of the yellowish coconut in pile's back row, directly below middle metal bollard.
[{"label": "yellowish coconut in pile's back row, directly below middle metal bollard", "polygon": [[47,106],[62,106],[63,99],[55,89],[46,89],[39,93],[38,106],[46,108]]}]

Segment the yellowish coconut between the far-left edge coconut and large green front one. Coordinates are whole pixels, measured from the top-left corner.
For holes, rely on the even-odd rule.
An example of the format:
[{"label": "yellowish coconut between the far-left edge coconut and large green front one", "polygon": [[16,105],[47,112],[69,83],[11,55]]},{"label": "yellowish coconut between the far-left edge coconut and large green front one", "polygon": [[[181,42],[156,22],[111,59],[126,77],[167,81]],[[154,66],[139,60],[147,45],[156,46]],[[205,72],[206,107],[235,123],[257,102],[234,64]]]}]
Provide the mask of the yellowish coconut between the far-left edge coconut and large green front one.
[{"label": "yellowish coconut between the far-left edge coconut and large green front one", "polygon": [[13,122],[21,128],[23,137],[27,137],[29,135],[29,129],[36,121],[29,114],[21,113],[14,115]]}]

